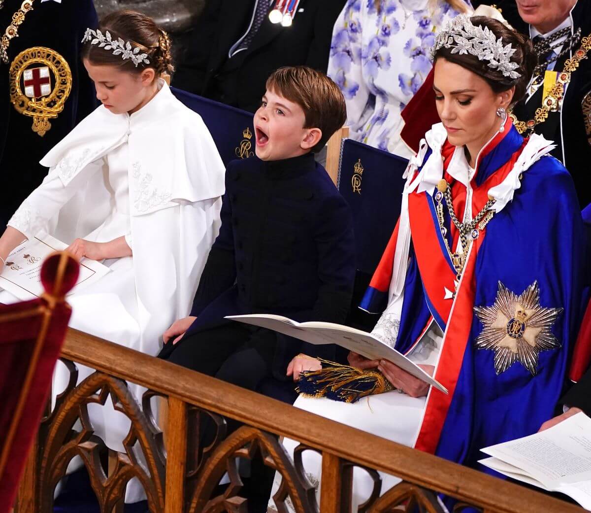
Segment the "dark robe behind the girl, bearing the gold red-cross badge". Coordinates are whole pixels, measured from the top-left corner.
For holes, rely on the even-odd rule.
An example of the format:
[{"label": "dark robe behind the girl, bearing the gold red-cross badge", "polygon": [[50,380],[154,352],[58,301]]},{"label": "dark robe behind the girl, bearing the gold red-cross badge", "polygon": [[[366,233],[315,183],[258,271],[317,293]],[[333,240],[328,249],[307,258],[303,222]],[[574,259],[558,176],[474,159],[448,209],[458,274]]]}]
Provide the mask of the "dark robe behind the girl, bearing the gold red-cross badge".
[{"label": "dark robe behind the girl, bearing the gold red-cross badge", "polygon": [[[0,32],[8,27],[22,0],[5,0],[0,10]],[[95,87],[80,59],[82,37],[86,28],[98,25],[92,0],[36,1],[18,28],[18,37],[8,47],[10,63],[0,63],[0,233],[22,201],[47,174],[39,164],[51,150],[92,112],[97,104]],[[72,92],[63,111],[50,119],[51,129],[40,137],[31,129],[33,118],[18,113],[10,101],[9,67],[15,57],[31,47],[57,51],[72,71]],[[37,66],[37,65],[35,65]]]}]

